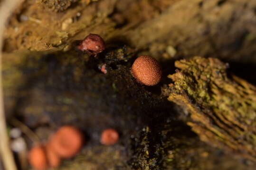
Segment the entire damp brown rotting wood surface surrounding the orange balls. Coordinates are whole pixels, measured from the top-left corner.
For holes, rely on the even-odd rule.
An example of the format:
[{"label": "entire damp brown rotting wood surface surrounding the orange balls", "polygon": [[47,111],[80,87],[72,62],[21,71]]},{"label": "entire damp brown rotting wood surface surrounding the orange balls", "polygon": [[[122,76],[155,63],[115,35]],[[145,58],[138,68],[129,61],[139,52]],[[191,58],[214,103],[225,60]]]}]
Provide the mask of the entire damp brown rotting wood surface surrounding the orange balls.
[{"label": "entire damp brown rotting wood surface surrounding the orange balls", "polygon": [[[24,0],[5,34],[9,126],[19,119],[42,142],[62,125],[79,127],[85,146],[59,170],[254,170],[255,8],[254,0]],[[106,42],[96,58],[77,50],[90,33]],[[160,62],[160,84],[133,78],[140,55]],[[120,141],[107,147],[99,141],[109,127]]]}]

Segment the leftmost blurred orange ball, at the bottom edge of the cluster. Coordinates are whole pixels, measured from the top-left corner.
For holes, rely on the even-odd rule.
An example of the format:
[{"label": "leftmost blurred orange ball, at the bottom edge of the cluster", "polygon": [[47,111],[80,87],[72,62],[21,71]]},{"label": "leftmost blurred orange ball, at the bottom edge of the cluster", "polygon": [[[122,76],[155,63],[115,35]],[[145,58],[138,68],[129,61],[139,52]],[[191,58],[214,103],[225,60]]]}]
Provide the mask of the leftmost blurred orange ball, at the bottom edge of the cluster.
[{"label": "leftmost blurred orange ball, at the bottom edge of the cluster", "polygon": [[42,145],[34,146],[29,151],[28,161],[36,170],[46,170],[48,166],[45,147]]}]

